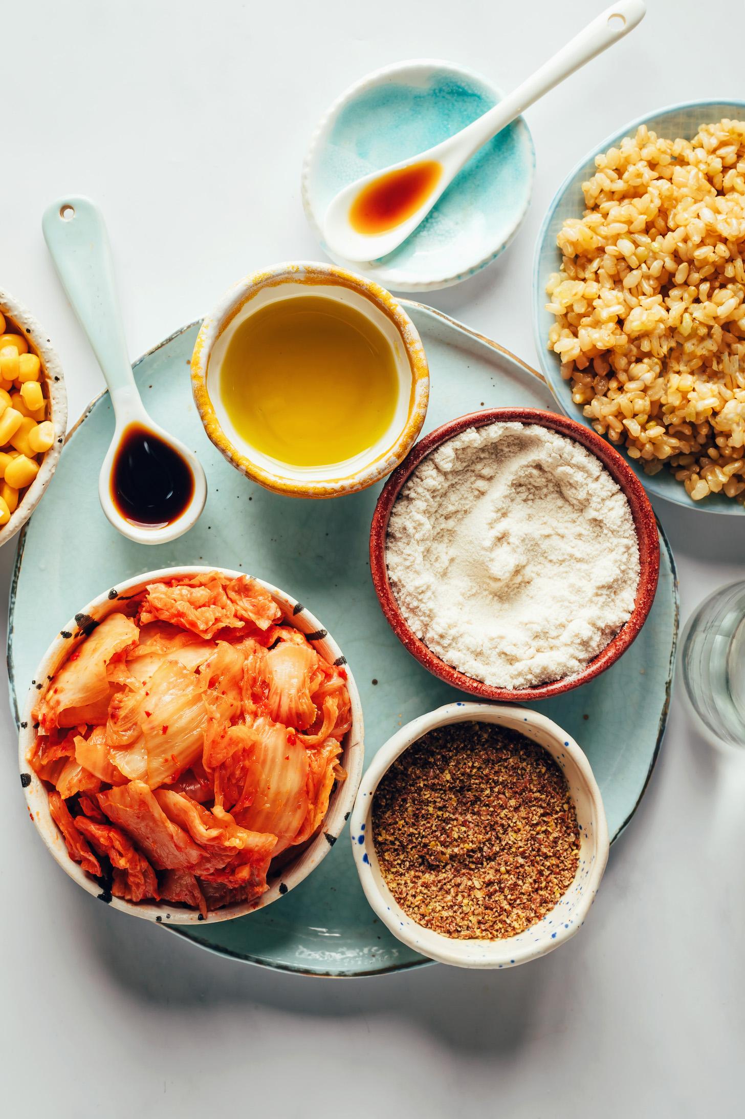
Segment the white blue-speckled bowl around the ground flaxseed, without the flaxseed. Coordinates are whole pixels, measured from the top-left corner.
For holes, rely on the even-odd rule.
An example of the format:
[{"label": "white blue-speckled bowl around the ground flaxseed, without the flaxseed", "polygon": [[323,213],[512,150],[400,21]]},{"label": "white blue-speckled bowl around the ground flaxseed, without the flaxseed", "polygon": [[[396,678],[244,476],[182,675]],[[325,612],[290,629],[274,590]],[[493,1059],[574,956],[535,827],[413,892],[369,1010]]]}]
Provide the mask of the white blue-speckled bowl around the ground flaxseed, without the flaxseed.
[{"label": "white blue-speckled bowl around the ground flaxseed, without the flaxseed", "polygon": [[[466,721],[497,723],[537,742],[562,767],[579,826],[579,866],[574,882],[538,924],[504,940],[455,940],[417,924],[394,900],[375,853],[372,798],[393,762],[428,731]],[[360,783],[349,824],[355,862],[365,895],[383,923],[409,948],[461,968],[508,968],[545,956],[569,940],[584,923],[609,854],[605,809],[590,762],[577,743],[538,712],[483,703],[451,703],[403,726],[380,747]]]}]

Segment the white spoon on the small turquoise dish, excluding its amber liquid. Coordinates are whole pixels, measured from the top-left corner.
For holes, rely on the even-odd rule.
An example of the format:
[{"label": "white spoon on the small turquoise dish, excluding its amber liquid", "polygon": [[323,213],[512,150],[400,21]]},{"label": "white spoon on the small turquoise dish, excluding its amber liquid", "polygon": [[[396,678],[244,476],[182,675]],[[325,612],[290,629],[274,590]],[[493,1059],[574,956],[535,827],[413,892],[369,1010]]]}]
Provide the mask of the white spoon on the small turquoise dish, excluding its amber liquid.
[{"label": "white spoon on the small turquoise dish, excluding its amber liquid", "polygon": [[[619,3],[606,8],[558,54],[549,58],[532,77],[466,128],[427,151],[404,159],[399,163],[392,163],[390,167],[374,171],[345,187],[329,204],[323,219],[323,238],[329,248],[348,261],[377,261],[392,253],[424,220],[479,148],[559,82],[633,30],[644,18],[645,11],[644,0],[619,0]],[[434,182],[430,184],[428,191],[413,213],[398,220],[396,225],[379,232],[365,233],[355,228],[350,211],[362,190],[385,179],[392,172],[413,169],[421,163],[440,164],[442,170],[436,177],[436,168],[434,169]],[[399,177],[399,185],[402,180],[403,177]]]}]

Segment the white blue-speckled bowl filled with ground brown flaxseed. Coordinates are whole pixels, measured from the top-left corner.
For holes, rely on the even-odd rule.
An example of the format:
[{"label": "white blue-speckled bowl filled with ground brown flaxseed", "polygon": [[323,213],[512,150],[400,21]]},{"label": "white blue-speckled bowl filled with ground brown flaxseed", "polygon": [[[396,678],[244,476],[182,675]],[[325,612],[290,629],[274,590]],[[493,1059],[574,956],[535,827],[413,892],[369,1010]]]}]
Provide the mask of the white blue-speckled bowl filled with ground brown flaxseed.
[{"label": "white blue-speckled bowl filled with ground brown flaxseed", "polygon": [[423,715],[378,751],[350,835],[390,932],[472,968],[525,963],[573,937],[609,853],[577,743],[537,712],[478,703]]}]

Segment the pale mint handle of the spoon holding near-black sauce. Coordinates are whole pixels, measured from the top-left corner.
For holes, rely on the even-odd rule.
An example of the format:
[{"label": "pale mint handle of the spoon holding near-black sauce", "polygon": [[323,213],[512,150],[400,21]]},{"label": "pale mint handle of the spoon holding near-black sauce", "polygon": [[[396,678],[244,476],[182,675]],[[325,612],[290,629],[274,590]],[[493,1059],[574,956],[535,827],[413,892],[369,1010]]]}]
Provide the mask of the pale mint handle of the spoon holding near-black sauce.
[{"label": "pale mint handle of the spoon holding near-black sauce", "polygon": [[62,285],[98,359],[114,412],[122,412],[139,401],[139,393],[103,215],[89,198],[66,195],[44,211],[41,229]]}]

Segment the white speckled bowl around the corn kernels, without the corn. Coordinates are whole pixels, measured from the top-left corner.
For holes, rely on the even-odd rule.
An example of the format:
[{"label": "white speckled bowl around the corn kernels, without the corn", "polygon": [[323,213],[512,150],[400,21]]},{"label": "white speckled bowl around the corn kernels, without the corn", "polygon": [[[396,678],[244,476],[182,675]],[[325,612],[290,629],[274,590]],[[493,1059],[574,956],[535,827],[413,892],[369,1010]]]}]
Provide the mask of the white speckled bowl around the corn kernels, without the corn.
[{"label": "white speckled bowl around the corn kernels, without the corn", "polygon": [[46,385],[47,389],[49,401],[48,419],[55,425],[55,441],[41,459],[39,472],[26,490],[22,499],[18,502],[18,507],[11,514],[10,520],[0,528],[0,546],[2,546],[23,527],[41,500],[41,495],[55,472],[67,431],[67,393],[65,392],[65,378],[59,358],[53,349],[46,331],[39,326],[36,319],[29,314],[22,303],[17,302],[12,295],[2,290],[0,290],[0,311],[6,319],[25,335],[29,345],[29,352],[36,354],[41,363],[40,380]]}]

